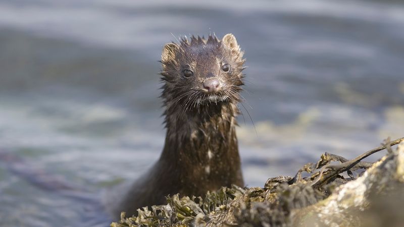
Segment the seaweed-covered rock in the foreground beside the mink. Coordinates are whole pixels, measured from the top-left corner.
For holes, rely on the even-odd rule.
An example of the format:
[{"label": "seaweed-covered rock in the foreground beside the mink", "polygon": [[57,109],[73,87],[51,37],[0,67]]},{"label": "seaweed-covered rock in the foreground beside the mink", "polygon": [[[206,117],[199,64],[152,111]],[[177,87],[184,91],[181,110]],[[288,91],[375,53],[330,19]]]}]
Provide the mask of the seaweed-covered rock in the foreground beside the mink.
[{"label": "seaweed-covered rock in the foreground beside the mink", "polygon": [[[132,217],[122,213],[111,226],[401,226],[402,141],[386,140],[352,160],[325,153],[294,177],[268,179],[264,188],[221,188],[205,198],[168,196],[166,205],[139,209]],[[383,149],[388,153],[379,161],[362,161]],[[358,169],[366,172],[355,178]],[[302,178],[302,172],[311,176]]]}]

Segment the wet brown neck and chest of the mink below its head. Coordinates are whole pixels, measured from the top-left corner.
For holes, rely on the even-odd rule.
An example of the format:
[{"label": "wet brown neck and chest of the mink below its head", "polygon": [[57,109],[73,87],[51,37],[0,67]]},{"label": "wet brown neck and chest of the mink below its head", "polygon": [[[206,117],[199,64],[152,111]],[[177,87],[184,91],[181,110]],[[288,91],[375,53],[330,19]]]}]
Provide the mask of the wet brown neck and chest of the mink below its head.
[{"label": "wet brown neck and chest of the mink below its head", "polygon": [[[189,110],[167,109],[167,135],[159,164],[179,181],[243,186],[235,132],[237,107],[222,103]],[[180,116],[178,116],[180,115]],[[184,192],[186,194],[186,192]]]}]

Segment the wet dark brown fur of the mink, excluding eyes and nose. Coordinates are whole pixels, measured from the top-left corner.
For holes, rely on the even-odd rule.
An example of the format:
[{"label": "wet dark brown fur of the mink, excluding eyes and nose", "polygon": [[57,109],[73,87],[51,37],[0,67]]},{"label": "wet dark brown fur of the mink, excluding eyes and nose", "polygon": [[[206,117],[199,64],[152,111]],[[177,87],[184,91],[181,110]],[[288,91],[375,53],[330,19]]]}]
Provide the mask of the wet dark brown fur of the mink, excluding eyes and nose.
[{"label": "wet dark brown fur of the mink, excluding eyes and nose", "polygon": [[[202,196],[221,186],[244,186],[235,131],[242,55],[232,34],[222,40],[192,36],[163,47],[165,146],[157,163],[123,198],[119,212],[132,215],[140,207],[164,204],[169,194]],[[230,70],[223,72],[226,63]],[[184,77],[185,69],[194,75]],[[221,82],[216,96],[203,89],[209,78]]]}]

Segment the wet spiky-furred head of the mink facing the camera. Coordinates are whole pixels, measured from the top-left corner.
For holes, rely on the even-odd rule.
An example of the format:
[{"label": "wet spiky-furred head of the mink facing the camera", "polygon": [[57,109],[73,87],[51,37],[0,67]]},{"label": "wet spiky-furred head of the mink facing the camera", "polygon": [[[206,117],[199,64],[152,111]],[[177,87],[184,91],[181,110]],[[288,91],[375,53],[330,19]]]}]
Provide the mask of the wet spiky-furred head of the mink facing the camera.
[{"label": "wet spiky-furred head of the mink facing the camera", "polygon": [[184,111],[236,103],[243,85],[243,52],[233,34],[167,43],[162,51],[163,98]]}]

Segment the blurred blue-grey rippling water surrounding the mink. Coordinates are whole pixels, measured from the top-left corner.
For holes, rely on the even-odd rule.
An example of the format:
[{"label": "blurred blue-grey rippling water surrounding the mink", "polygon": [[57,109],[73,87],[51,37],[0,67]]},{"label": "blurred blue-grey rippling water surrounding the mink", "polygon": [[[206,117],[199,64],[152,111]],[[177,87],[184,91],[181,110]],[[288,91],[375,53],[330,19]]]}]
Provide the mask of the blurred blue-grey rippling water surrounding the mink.
[{"label": "blurred blue-grey rippling water surrounding the mink", "polygon": [[0,0],[0,153],[18,157],[0,160],[0,226],[108,226],[85,196],[18,173],[96,199],[139,177],[164,144],[161,48],[211,32],[233,33],[247,59],[248,186],[404,136],[400,1]]}]

